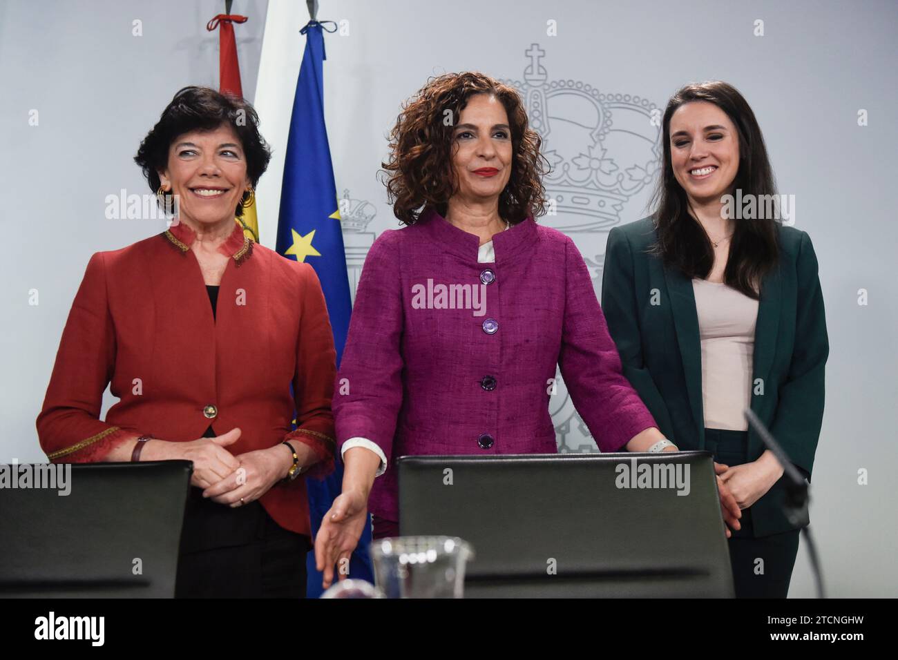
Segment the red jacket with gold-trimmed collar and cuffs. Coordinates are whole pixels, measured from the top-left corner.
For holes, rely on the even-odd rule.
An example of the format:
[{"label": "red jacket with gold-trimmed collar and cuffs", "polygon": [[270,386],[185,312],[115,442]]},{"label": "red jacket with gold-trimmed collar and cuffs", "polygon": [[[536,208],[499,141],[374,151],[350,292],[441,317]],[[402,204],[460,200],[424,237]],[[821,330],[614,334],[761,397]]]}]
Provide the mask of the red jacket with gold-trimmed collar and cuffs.
[{"label": "red jacket with gold-trimmed collar and cuffs", "polygon": [[[136,435],[196,440],[211,424],[216,435],[241,428],[235,455],[310,444],[322,461],[309,474],[329,473],[336,352],[313,268],[245,239],[235,223],[220,248],[233,260],[214,319],[189,250],[195,237],[178,224],[92,256],[37,419],[40,446],[52,462],[102,461]],[[119,401],[101,421],[109,383]],[[304,479],[260,502],[277,524],[311,536]]]}]

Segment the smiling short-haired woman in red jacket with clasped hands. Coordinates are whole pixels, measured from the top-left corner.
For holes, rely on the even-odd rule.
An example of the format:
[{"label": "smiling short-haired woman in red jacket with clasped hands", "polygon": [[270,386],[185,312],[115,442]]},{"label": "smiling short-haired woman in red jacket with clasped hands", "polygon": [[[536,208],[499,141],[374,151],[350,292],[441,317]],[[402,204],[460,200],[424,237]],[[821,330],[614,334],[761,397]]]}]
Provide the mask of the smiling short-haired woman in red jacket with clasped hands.
[{"label": "smiling short-haired woman in red jacket with clasped hands", "polygon": [[[311,528],[296,477],[333,467],[321,286],[234,222],[269,158],[245,101],[175,95],[135,160],[180,222],[92,256],[37,419],[52,462],[193,462],[179,597],[304,595]],[[103,421],[108,384],[119,401]]]}]

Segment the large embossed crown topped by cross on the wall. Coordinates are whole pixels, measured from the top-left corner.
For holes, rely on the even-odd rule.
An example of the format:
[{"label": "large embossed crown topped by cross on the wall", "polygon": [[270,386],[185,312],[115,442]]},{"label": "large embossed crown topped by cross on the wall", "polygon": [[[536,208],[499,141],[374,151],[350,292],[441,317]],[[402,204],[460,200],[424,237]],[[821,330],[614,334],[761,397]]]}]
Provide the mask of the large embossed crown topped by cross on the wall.
[{"label": "large embossed crown topped by cross on the wall", "polygon": [[[654,178],[660,158],[660,110],[630,94],[603,93],[574,80],[549,81],[539,44],[524,55],[521,92],[532,128],[551,165],[544,178],[557,216],[540,222],[568,231],[601,231],[621,223],[626,202]],[[653,116],[656,121],[652,121]]]}]

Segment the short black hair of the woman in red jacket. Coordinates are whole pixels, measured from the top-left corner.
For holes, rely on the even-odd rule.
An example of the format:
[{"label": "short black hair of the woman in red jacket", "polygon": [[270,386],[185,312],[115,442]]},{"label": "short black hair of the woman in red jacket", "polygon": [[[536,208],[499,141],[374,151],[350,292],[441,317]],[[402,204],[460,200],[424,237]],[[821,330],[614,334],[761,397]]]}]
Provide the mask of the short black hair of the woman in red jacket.
[{"label": "short black hair of the woman in red jacket", "polygon": [[[255,188],[269,166],[271,149],[259,133],[259,116],[248,101],[216,92],[209,87],[184,87],[165,106],[162,116],[140,143],[134,162],[143,170],[150,189],[159,189],[159,170],[168,166],[169,147],[175,138],[194,130],[215,130],[226,124],[240,138],[246,156],[246,175]],[[249,198],[244,192],[241,201]],[[234,215],[243,215],[240,203]]]}]

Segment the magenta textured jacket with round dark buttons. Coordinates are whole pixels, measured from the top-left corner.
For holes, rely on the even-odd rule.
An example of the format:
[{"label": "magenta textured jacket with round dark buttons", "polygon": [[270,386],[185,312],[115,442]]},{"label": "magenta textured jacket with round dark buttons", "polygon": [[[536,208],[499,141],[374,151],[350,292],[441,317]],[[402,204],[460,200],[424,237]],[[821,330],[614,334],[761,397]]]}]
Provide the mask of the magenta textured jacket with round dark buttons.
[{"label": "magenta textured jacket with round dark buttons", "polygon": [[368,252],[332,406],[340,446],[365,437],[387,457],[374,515],[399,520],[400,456],[556,453],[556,365],[603,452],[656,426],[574,242],[528,218],[493,246],[478,263],[478,237],[427,211]]}]

